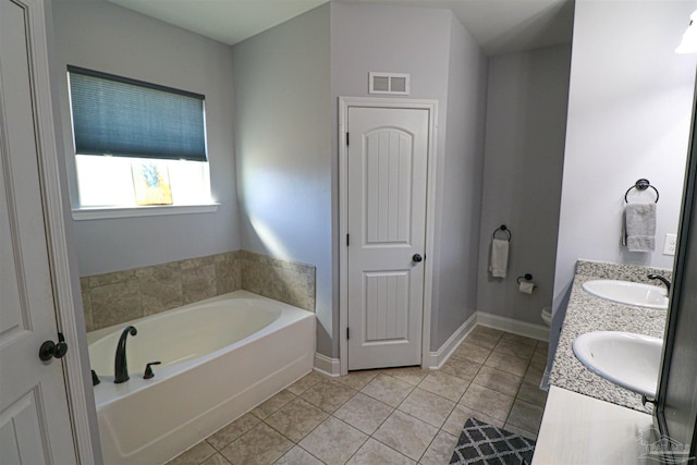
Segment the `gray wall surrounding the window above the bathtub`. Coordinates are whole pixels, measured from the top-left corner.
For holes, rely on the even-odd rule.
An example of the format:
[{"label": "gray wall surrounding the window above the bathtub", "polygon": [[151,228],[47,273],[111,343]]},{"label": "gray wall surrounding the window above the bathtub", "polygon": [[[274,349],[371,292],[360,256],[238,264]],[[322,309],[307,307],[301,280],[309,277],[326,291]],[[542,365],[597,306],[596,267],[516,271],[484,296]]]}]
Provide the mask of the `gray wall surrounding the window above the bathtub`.
[{"label": "gray wall surrounding the window above the bathtub", "polygon": [[[101,0],[53,2],[57,68],[84,66],[206,96],[215,213],[74,221],[82,276],[240,248],[230,47]],[[70,192],[77,205],[65,74],[61,119]]]}]

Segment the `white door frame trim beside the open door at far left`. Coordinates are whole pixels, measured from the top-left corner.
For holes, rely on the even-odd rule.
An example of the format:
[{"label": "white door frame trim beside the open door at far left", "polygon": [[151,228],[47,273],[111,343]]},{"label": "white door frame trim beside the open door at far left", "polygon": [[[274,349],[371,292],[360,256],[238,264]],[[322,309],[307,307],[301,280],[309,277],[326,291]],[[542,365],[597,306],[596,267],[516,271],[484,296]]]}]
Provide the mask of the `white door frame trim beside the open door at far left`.
[{"label": "white door frame trim beside the open door at far left", "polygon": [[[52,10],[49,2],[42,0],[12,0],[26,11],[26,27],[29,42],[28,61],[32,66],[32,99],[34,101],[35,124],[37,127],[39,185],[44,205],[51,285],[56,307],[58,331],[62,332],[70,350],[61,360],[68,411],[71,417],[75,455],[82,465],[100,464],[101,449],[97,428],[91,380],[89,379],[89,358],[87,335],[83,317],[80,276],[76,262],[71,255],[70,209],[63,199],[68,198],[63,189],[65,183],[60,114],[56,96],[56,82],[51,79],[52,64]],[[7,131],[3,127],[2,131]],[[60,144],[59,144],[60,143]],[[38,347],[37,347],[38,357]],[[47,406],[48,407],[48,406]]]}]

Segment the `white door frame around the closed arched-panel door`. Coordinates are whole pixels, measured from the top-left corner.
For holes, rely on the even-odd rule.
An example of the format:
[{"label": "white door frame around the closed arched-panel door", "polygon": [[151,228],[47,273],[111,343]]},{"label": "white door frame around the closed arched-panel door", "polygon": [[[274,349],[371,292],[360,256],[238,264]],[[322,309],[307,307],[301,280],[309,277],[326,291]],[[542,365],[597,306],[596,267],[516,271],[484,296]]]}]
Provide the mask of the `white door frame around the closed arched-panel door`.
[{"label": "white door frame around the closed arched-panel door", "polygon": [[348,372],[348,149],[346,146],[346,126],[348,109],[389,108],[428,111],[428,144],[426,175],[426,244],[424,260],[424,316],[421,320],[421,368],[429,359],[431,344],[431,296],[433,283],[433,236],[436,207],[436,167],[438,140],[438,100],[395,99],[372,97],[339,97],[339,368],[341,375]]}]

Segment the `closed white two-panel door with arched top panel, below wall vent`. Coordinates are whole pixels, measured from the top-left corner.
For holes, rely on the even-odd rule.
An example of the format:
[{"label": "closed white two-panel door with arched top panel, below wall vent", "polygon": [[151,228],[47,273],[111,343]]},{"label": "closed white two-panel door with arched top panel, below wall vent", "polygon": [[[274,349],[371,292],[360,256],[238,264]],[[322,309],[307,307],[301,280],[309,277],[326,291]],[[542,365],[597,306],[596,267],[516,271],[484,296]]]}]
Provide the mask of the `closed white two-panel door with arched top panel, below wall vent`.
[{"label": "closed white two-panel door with arched top panel, below wall vent", "polygon": [[348,108],[350,370],[421,363],[428,118]]}]

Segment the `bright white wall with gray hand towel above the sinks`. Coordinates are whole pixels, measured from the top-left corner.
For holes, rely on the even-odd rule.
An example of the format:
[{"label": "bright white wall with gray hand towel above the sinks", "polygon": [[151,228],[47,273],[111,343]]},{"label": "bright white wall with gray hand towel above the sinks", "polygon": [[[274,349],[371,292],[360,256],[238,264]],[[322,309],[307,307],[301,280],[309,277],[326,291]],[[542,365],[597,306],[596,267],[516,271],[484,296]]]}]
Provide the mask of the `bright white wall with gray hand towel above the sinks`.
[{"label": "bright white wall with gray hand towel above the sinks", "polygon": [[[677,230],[695,83],[694,56],[674,49],[694,9],[576,1],[554,310],[578,258],[672,268],[663,242]],[[655,253],[620,245],[624,194],[640,178],[661,195]]]}]

